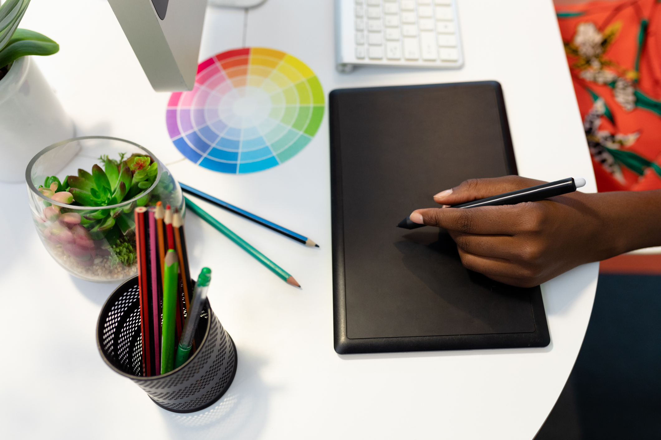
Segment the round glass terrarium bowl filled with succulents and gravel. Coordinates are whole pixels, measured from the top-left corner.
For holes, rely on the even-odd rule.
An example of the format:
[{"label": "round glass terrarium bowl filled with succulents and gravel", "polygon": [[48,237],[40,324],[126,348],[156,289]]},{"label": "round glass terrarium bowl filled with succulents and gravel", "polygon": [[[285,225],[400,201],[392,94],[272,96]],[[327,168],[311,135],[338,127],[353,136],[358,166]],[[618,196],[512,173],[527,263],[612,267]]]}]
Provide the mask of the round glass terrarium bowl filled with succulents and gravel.
[{"label": "round glass terrarium bowl filled with succulents and gravel", "polygon": [[181,188],[163,163],[146,148],[113,137],[48,146],[30,160],[25,178],[44,246],[83,280],[121,282],[137,273],[136,206],[161,201],[184,207]]}]

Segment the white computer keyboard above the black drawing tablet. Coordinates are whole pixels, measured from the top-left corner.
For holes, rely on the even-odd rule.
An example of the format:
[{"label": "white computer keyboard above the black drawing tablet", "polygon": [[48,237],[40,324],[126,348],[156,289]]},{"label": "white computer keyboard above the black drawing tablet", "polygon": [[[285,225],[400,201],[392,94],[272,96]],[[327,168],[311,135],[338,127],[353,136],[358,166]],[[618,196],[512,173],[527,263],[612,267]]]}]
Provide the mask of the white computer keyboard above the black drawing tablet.
[{"label": "white computer keyboard above the black drawing tablet", "polygon": [[456,0],[336,0],[336,61],[354,65],[463,65]]}]

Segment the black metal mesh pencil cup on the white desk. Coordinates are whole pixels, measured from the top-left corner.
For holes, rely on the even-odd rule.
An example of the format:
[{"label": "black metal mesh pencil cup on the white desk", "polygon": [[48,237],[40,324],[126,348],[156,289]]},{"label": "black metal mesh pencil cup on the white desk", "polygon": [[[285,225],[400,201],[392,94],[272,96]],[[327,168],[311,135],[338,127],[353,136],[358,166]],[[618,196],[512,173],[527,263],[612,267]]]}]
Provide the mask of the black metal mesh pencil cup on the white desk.
[{"label": "black metal mesh pencil cup on the white desk", "polygon": [[137,276],[116,288],[101,309],[97,346],[101,358],[128,377],[161,408],[194,412],[221,398],[237,371],[237,350],[206,302],[196,332],[198,349],[188,361],[164,375],[143,377]]}]

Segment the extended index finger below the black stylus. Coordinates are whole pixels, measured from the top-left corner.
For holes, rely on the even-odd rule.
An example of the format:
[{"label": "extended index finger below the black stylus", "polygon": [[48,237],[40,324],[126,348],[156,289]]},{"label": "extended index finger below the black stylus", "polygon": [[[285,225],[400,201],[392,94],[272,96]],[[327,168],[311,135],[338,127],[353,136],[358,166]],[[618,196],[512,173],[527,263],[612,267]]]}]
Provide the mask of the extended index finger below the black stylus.
[{"label": "extended index finger below the black stylus", "polygon": [[477,208],[426,208],[414,210],[412,222],[466,234],[514,235],[539,224],[539,202],[479,206]]}]

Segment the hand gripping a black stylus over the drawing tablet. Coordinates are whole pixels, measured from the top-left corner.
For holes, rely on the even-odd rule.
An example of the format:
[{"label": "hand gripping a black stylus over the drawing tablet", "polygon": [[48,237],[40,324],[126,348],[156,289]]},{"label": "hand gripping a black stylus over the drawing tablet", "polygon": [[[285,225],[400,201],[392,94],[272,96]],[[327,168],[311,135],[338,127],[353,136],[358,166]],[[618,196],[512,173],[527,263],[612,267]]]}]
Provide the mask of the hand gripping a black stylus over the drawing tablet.
[{"label": "hand gripping a black stylus over the drawing tablet", "polygon": [[541,185],[516,175],[471,179],[438,193],[443,208],[418,209],[410,220],[446,228],[464,267],[513,286],[537,286],[571,268],[625,250],[610,234],[609,202],[578,191],[539,202],[451,208],[492,195]]}]

